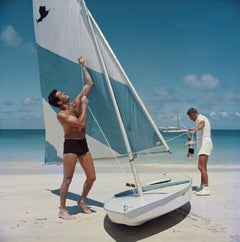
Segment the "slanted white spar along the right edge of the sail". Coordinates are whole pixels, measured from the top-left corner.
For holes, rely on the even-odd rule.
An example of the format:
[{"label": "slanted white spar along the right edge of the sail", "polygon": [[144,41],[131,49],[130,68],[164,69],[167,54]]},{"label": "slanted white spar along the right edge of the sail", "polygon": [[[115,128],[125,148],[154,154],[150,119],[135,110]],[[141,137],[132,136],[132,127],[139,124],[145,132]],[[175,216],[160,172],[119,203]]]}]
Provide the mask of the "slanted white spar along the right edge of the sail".
[{"label": "slanted white spar along the right edge of the sail", "polygon": [[147,111],[147,108],[145,107],[144,103],[142,102],[141,98],[139,97],[137,91],[135,90],[135,88],[133,87],[131,81],[129,80],[126,72],[124,71],[122,65],[120,64],[120,62],[118,61],[116,55],[114,54],[112,48],[110,47],[108,41],[106,40],[106,38],[104,37],[104,35],[102,34],[102,31],[100,30],[97,22],[95,21],[95,19],[93,18],[92,14],[89,12],[89,17],[91,18],[92,22],[94,23],[94,25],[96,26],[96,29],[98,30],[99,35],[101,36],[102,40],[104,41],[104,43],[106,44],[109,53],[112,55],[112,58],[114,59],[114,61],[116,62],[116,64],[118,65],[119,70],[121,71],[122,75],[125,77],[126,79],[126,83],[129,87],[129,89],[131,90],[133,96],[135,97],[136,101],[138,102],[138,104],[140,105],[140,107],[142,108],[144,114],[146,115],[148,121],[150,122],[153,130],[156,132],[157,136],[159,137],[161,143],[163,144],[163,146],[165,147],[165,149],[167,151],[170,152],[170,148],[168,147],[166,141],[164,140],[164,138],[162,137],[162,134],[160,133],[158,127],[156,126],[155,122],[153,121],[151,115],[149,114],[149,112]]}]

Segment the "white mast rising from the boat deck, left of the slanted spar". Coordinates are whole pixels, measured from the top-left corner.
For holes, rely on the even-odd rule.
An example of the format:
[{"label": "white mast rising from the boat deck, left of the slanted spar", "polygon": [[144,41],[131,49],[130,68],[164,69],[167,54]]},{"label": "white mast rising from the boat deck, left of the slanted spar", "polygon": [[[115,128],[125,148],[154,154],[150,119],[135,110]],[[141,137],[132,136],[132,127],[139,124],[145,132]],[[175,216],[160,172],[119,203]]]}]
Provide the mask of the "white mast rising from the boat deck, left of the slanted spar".
[{"label": "white mast rising from the boat deck, left of the slanted spar", "polygon": [[[119,111],[119,107],[118,107],[118,104],[117,104],[117,101],[116,101],[116,97],[115,97],[115,94],[114,94],[114,91],[113,91],[113,87],[112,87],[112,84],[111,84],[111,81],[110,81],[110,78],[109,78],[109,75],[108,75],[108,72],[107,72],[106,64],[104,62],[101,49],[99,47],[97,38],[96,38],[95,33],[94,33],[92,22],[95,25],[95,27],[97,28],[97,30],[99,31],[99,33],[101,33],[101,31],[98,28],[96,22],[92,21],[92,18],[90,17],[90,12],[89,12],[84,0],[82,0],[81,3],[84,6],[84,10],[85,10],[87,20],[88,20],[88,23],[89,23],[89,26],[90,26],[90,30],[91,30],[91,33],[92,33],[92,36],[93,36],[93,40],[94,40],[94,44],[95,44],[95,47],[96,47],[96,50],[97,50],[97,53],[98,53],[98,57],[100,58],[100,61],[101,61],[101,64],[102,64],[106,83],[107,83],[109,93],[110,93],[110,96],[111,96],[111,99],[112,99],[112,102],[113,102],[113,107],[114,107],[114,110],[115,110],[115,113],[116,113],[116,116],[117,116],[117,120],[118,120],[118,123],[119,123],[119,126],[120,126],[120,130],[121,130],[121,133],[122,133],[122,136],[123,136],[123,140],[124,140],[124,143],[125,143],[125,146],[126,146],[126,150],[127,150],[127,153],[128,153],[129,162],[131,164],[131,169],[132,169],[134,180],[135,180],[135,183],[136,183],[136,186],[137,186],[138,194],[140,196],[143,196],[142,186],[141,186],[141,183],[140,183],[137,171],[136,171],[136,167],[135,167],[134,162],[133,162],[134,157],[133,157],[131,146],[130,146],[130,143],[129,143],[129,140],[128,140],[127,132],[126,132],[126,129],[124,127],[124,123],[123,123],[123,120],[122,120],[122,117],[121,117],[121,113]],[[106,43],[106,41],[104,41],[104,42],[107,45],[107,47],[109,48],[109,45]]]}]

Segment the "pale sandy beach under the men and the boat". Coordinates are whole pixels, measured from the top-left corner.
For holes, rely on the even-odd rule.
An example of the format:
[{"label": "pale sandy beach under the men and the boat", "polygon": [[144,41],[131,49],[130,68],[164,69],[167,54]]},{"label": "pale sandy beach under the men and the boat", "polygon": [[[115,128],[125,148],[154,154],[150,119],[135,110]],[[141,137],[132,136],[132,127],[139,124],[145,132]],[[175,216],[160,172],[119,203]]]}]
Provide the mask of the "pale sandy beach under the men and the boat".
[{"label": "pale sandy beach under the men and the boat", "polygon": [[[138,227],[109,221],[103,204],[133,182],[127,164],[125,173],[107,163],[95,162],[97,180],[89,194],[93,213],[83,214],[76,201],[84,174],[77,166],[67,206],[75,220],[57,216],[61,165],[3,163],[0,165],[0,241],[240,241],[240,180],[237,167],[209,166],[211,196],[190,203]],[[199,185],[196,163],[189,165],[138,164],[142,181],[161,173],[184,173]]]}]

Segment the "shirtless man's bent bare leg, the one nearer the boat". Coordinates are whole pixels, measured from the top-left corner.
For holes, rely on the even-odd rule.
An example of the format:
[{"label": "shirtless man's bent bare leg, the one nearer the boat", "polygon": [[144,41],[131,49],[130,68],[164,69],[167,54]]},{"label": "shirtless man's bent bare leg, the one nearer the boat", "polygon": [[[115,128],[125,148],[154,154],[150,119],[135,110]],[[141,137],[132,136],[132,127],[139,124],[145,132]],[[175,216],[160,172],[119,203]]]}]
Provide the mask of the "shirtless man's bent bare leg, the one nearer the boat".
[{"label": "shirtless man's bent bare leg, the one nearer the boat", "polygon": [[86,206],[87,195],[92,188],[94,181],[96,180],[95,168],[93,164],[93,159],[90,152],[87,152],[85,155],[79,158],[80,164],[86,174],[86,181],[83,184],[83,192],[80,201],[78,202],[79,206],[82,207],[84,213],[91,213],[91,210]]}]

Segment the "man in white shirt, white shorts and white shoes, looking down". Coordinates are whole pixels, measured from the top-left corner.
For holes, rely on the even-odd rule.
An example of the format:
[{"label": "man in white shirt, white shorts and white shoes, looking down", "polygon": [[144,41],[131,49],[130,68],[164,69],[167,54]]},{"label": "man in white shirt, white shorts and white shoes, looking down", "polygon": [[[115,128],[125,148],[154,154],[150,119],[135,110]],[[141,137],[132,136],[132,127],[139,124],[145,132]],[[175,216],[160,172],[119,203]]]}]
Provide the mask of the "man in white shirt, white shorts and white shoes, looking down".
[{"label": "man in white shirt, white shorts and white shoes, looking down", "polygon": [[210,195],[207,161],[213,148],[211,125],[208,118],[199,114],[195,108],[190,108],[187,115],[193,122],[196,122],[196,127],[188,131],[188,134],[191,135],[197,133],[198,169],[201,172],[201,186],[196,190],[195,194],[198,196]]}]

